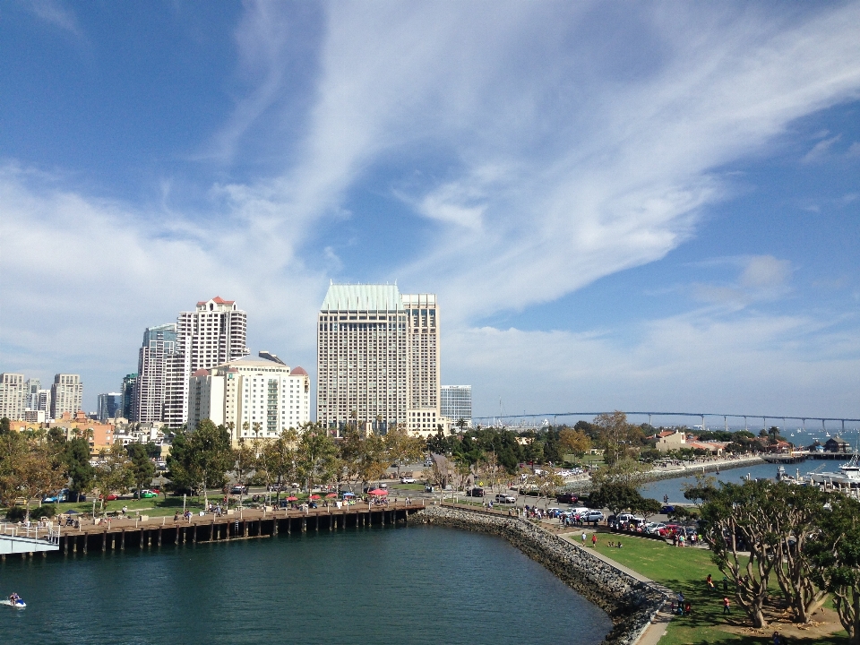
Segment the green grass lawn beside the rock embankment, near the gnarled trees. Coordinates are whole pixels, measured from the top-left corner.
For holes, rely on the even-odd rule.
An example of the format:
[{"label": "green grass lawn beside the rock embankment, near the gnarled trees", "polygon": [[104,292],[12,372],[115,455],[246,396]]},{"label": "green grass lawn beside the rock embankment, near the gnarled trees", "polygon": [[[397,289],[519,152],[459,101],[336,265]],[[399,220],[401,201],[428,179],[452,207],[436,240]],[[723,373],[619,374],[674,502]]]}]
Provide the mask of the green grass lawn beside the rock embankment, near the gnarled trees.
[{"label": "green grass lawn beside the rock embankment, near the gnarled trees", "polygon": [[[622,548],[610,548],[607,542],[621,542]],[[742,635],[725,631],[727,620],[722,614],[723,574],[710,562],[710,551],[691,547],[667,545],[657,540],[633,538],[617,534],[598,534],[598,551],[615,562],[657,581],[675,594],[684,593],[684,598],[692,605],[692,615],[675,616],[668,624],[667,634],[660,645],[763,645],[770,643],[770,635],[781,631],[782,624],[773,624],[767,635]],[[717,590],[708,591],[705,578],[714,578]],[[731,624],[749,625],[746,616],[734,600],[734,591],[729,588],[732,598]],[[833,615],[832,612],[830,614]],[[790,637],[792,643],[804,645],[845,645],[847,635],[844,631],[832,636],[817,635],[809,639]]]}]

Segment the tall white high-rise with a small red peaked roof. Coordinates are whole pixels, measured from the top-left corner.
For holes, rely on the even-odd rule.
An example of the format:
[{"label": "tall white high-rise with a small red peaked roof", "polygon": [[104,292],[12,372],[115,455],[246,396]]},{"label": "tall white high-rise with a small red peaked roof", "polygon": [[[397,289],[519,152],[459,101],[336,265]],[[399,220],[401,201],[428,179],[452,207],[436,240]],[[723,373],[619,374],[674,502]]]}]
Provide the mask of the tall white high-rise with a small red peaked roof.
[{"label": "tall white high-rise with a small red peaked roof", "polygon": [[246,331],[247,314],[233,300],[216,296],[198,302],[193,312],[179,314],[176,319],[178,352],[170,364],[164,409],[164,422],[168,427],[178,428],[188,418],[188,383],[194,372],[250,353],[245,347]]}]

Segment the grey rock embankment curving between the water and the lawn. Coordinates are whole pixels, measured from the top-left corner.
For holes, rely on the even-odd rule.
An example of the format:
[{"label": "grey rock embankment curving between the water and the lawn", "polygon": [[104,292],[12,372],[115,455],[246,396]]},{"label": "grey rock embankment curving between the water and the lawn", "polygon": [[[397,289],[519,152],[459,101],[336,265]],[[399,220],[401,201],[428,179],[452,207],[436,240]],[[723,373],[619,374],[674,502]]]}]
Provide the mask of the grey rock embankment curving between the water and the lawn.
[{"label": "grey rock embankment curving between the water and the lawn", "polygon": [[477,530],[508,540],[532,560],[603,609],[614,625],[604,645],[633,645],[667,600],[664,589],[637,581],[628,573],[552,535],[528,520],[485,512],[428,506],[409,522]]}]

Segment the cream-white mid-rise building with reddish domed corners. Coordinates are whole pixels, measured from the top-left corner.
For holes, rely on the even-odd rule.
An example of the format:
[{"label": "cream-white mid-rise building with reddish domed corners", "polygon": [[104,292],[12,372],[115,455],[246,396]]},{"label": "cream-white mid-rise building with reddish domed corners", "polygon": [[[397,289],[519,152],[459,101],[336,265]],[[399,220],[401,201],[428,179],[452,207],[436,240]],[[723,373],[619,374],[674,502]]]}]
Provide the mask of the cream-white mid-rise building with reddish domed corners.
[{"label": "cream-white mid-rise building with reddish domed corners", "polygon": [[188,429],[208,418],[230,428],[232,442],[274,439],[310,421],[311,380],[301,367],[290,369],[269,352],[242,357],[189,380]]}]

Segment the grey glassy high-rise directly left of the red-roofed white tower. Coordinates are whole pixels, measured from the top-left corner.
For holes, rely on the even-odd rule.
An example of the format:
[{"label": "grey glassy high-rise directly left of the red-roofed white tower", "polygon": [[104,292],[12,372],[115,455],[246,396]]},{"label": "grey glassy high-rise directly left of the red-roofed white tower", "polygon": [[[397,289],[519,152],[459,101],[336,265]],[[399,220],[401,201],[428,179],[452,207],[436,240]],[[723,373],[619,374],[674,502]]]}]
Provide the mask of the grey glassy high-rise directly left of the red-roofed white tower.
[{"label": "grey glassy high-rise directly left of the red-roofed white tower", "polygon": [[[139,423],[165,421],[165,404],[173,383],[180,348],[176,323],[147,327],[138,352],[137,381],[132,398],[132,419]],[[100,410],[99,410],[100,411]]]}]

